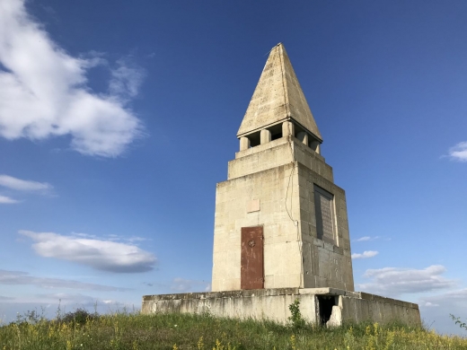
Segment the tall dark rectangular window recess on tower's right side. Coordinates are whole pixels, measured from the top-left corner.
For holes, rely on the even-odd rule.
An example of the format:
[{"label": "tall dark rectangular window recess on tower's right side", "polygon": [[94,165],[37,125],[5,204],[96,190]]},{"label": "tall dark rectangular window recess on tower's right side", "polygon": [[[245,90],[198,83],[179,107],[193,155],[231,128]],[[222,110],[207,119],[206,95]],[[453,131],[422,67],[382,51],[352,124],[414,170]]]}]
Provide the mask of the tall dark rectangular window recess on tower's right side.
[{"label": "tall dark rectangular window recess on tower's right side", "polygon": [[316,231],[318,238],[336,244],[334,226],[334,196],[314,185],[314,211],[316,213]]}]

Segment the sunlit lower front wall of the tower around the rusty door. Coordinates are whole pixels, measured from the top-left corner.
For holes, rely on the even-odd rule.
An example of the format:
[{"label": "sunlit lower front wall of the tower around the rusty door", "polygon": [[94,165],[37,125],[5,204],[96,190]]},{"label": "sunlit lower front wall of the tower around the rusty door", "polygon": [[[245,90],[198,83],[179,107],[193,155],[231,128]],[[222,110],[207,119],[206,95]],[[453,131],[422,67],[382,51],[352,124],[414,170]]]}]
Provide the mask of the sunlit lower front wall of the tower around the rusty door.
[{"label": "sunlit lower front wall of the tower around the rusty door", "polygon": [[[287,206],[298,218],[295,166],[288,163],[217,184],[213,291],[240,289],[241,230],[258,225],[263,226],[264,235],[264,287],[301,285],[299,232],[286,210]],[[255,200],[260,201],[260,210],[249,213]]]}]

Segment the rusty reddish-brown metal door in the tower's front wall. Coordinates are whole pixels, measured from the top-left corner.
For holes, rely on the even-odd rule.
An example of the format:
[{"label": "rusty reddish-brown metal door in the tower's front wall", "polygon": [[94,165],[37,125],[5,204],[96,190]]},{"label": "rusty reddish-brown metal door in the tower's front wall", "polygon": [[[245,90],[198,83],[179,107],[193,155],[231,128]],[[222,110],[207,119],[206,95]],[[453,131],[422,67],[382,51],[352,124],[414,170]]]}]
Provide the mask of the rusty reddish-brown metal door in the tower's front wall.
[{"label": "rusty reddish-brown metal door in the tower's front wall", "polygon": [[242,289],[264,288],[262,226],[242,227]]}]

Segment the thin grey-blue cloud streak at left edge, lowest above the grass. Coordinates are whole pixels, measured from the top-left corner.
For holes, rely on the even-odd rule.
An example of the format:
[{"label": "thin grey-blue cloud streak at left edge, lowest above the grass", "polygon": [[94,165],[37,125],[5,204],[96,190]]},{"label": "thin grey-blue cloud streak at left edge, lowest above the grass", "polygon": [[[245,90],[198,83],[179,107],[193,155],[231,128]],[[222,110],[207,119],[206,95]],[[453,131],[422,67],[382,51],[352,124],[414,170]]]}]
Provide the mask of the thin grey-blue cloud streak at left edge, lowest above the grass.
[{"label": "thin grey-blue cloud streak at left edge, lowest above the grass", "polygon": [[34,285],[40,288],[66,288],[77,290],[90,290],[90,291],[128,291],[128,288],[112,287],[110,285],[102,284],[88,284],[79,281],[61,279],[61,278],[48,278],[31,276],[27,272],[22,271],[9,271],[0,270],[0,284],[9,285]]}]

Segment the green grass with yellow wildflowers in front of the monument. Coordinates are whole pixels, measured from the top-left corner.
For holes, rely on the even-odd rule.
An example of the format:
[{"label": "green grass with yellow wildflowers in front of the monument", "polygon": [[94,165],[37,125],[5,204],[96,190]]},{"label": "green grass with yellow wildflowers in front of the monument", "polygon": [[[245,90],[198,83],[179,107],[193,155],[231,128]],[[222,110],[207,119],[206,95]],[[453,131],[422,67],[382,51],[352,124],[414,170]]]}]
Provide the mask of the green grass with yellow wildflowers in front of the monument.
[{"label": "green grass with yellow wildflowers in front of the monument", "polygon": [[[69,315],[69,314],[68,314]],[[79,316],[77,313],[75,316]],[[340,328],[280,326],[208,315],[116,313],[0,327],[0,350],[13,349],[467,349],[467,338],[424,328],[366,323]],[[30,318],[31,319],[31,318]]]}]

